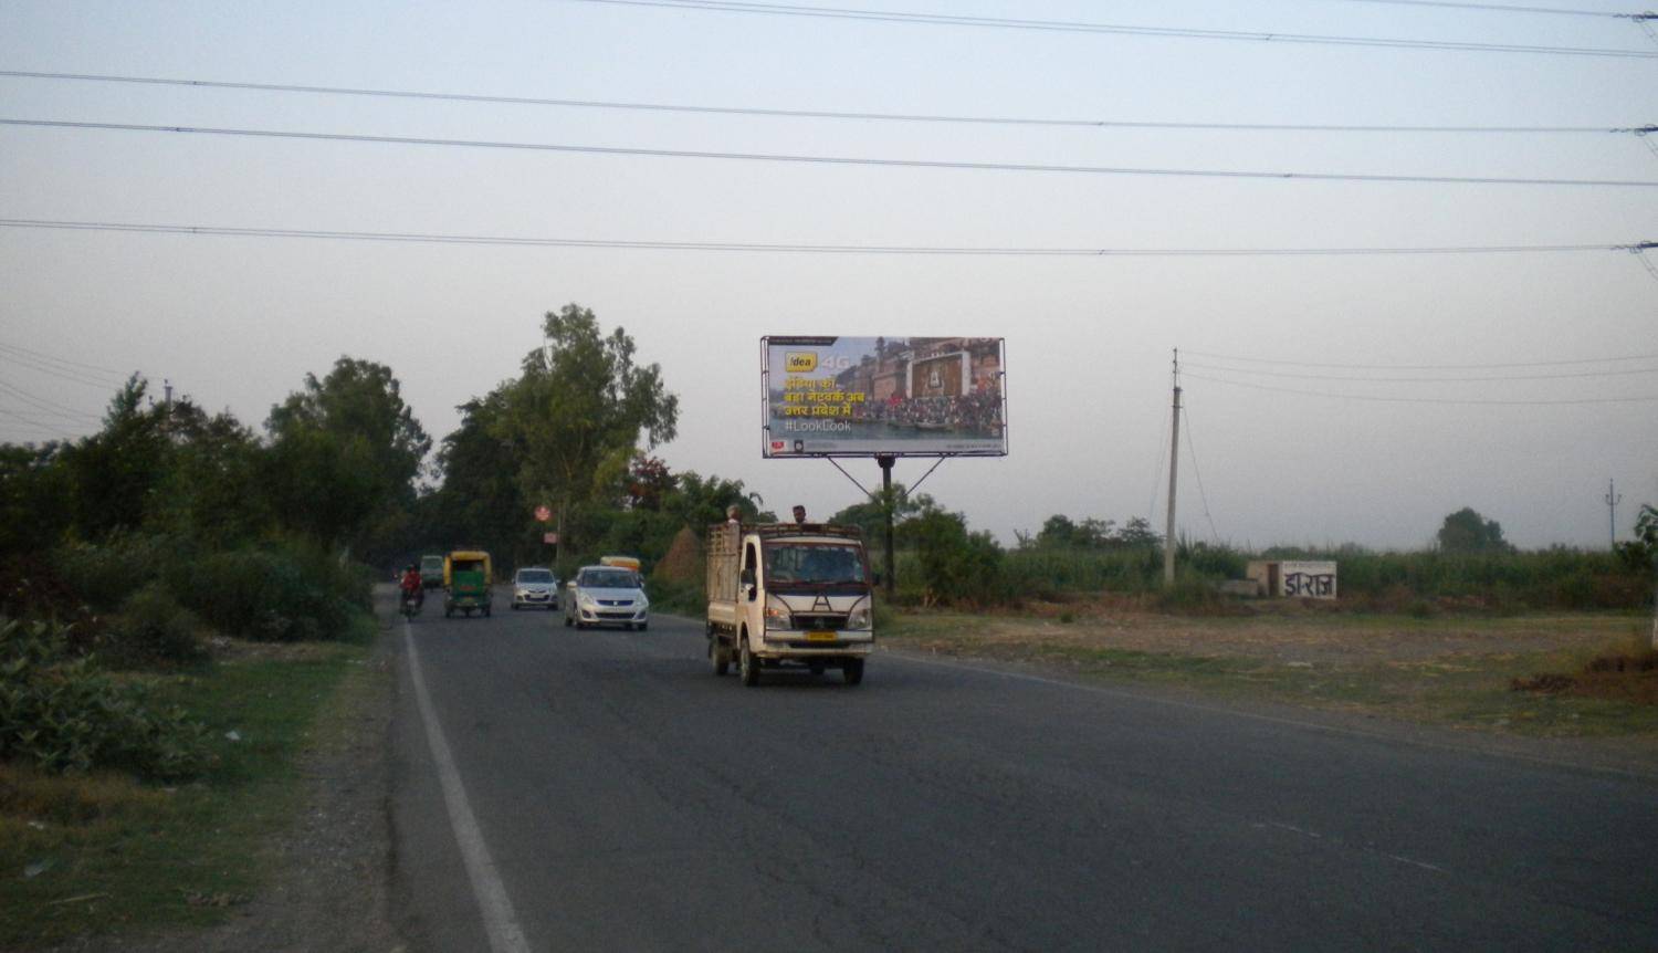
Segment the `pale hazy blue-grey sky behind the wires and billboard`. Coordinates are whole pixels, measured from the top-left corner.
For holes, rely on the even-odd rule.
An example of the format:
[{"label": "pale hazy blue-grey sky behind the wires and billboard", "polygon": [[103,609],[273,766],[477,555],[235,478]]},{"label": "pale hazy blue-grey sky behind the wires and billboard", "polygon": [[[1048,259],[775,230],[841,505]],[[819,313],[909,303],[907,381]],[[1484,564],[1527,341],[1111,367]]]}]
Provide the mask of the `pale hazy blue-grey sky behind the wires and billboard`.
[{"label": "pale hazy blue-grey sky behind the wires and billboard", "polygon": [[[0,219],[932,249],[1588,249],[922,255],[0,225],[0,441],[93,433],[111,385],[133,371],[257,428],[307,373],[322,376],[343,355],[388,365],[441,439],[459,423],[458,404],[517,373],[542,315],[575,302],[604,328],[623,327],[678,394],[678,436],[653,452],[675,471],[741,479],[778,512],[802,502],[829,515],[862,491],[827,461],[761,459],[764,335],[1005,338],[1008,456],[943,461],[920,491],[1006,544],[1053,514],[1141,515],[1162,529],[1177,348],[1177,527],[1190,539],[1411,549],[1471,506],[1522,547],[1605,547],[1608,481],[1622,496],[1620,539],[1636,504],[1658,504],[1658,250],[1617,249],[1658,239],[1658,136],[1398,131],[1651,124],[1658,38],[1638,23],[1366,0],[821,7],[1278,40],[671,2],[0,0],[0,71],[1393,129],[826,119],[0,75],[0,119],[330,136],[0,123]],[[914,484],[932,464],[902,459],[894,477]],[[874,461],[844,466],[864,487],[879,484]]]}]

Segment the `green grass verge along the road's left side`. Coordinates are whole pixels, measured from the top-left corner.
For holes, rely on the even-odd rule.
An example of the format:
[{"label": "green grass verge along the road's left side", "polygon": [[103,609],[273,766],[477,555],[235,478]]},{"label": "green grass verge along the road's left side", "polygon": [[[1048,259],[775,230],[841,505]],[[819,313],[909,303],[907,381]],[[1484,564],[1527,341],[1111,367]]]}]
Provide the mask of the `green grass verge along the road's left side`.
[{"label": "green grass verge along the road's left side", "polygon": [[158,701],[209,726],[217,757],[196,782],[0,766],[0,948],[206,926],[250,898],[267,875],[265,844],[300,804],[298,757],[318,713],[343,680],[368,678],[371,630],[361,617],[347,643],[148,676]]}]

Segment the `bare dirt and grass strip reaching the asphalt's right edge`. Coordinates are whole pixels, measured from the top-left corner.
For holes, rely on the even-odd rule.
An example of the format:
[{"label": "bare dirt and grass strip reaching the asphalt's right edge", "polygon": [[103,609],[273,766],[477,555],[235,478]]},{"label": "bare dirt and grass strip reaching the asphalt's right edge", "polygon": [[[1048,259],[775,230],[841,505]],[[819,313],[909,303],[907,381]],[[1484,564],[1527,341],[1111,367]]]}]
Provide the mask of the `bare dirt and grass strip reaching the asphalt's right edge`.
[{"label": "bare dirt and grass strip reaching the asphalt's right edge", "polygon": [[[1363,734],[1658,779],[1658,673],[1587,675],[1650,622],[1612,613],[1436,617],[1277,605],[1225,617],[1038,605],[1025,613],[904,612],[887,651],[990,661]],[[1560,691],[1515,680],[1568,673]],[[1643,694],[1645,693],[1645,694]]]}]

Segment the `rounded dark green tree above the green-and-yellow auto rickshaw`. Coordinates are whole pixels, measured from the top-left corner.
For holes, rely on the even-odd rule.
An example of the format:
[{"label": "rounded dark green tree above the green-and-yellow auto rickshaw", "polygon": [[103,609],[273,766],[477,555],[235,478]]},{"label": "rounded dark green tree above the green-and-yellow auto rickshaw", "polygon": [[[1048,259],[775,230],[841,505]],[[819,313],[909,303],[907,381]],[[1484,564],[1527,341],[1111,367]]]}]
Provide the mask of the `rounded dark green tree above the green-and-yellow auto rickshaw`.
[{"label": "rounded dark green tree above the green-and-yellow auto rickshaw", "polygon": [[414,504],[431,438],[391,368],[340,358],[328,376],[270,408],[269,481],[277,512],[327,544],[366,542],[376,519]]}]

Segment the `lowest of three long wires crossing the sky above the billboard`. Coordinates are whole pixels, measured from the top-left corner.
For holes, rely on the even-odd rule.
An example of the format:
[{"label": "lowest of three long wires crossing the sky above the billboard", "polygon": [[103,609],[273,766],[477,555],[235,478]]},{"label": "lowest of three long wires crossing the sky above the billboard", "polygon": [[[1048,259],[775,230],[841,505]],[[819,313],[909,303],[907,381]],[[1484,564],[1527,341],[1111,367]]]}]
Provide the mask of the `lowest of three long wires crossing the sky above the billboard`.
[{"label": "lowest of three long wires crossing the sky above the billboard", "polygon": [[[527,235],[458,235],[433,232],[350,232],[325,229],[242,229],[221,225],[172,225],[154,222],[76,222],[56,219],[0,219],[8,229],[53,229],[78,232],[148,232],[162,235],[216,235],[239,239],[332,239],[355,242],[416,242],[451,245],[524,245],[555,249],[627,249],[660,252],[783,252],[846,255],[1001,255],[1001,257],[1318,257],[1318,255],[1507,255],[1626,252],[1635,245],[1462,245],[1462,247],[1374,247],[1374,249],[1066,249],[1066,247],[973,247],[973,245],[824,245],[804,242],[668,242],[648,239],[560,239]],[[1194,351],[1195,353],[1195,351]],[[1209,355],[1220,356],[1220,355]]]}]

